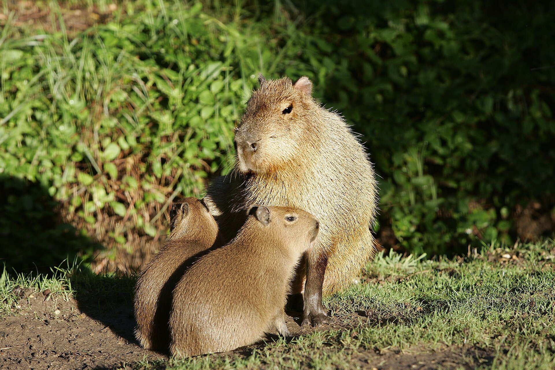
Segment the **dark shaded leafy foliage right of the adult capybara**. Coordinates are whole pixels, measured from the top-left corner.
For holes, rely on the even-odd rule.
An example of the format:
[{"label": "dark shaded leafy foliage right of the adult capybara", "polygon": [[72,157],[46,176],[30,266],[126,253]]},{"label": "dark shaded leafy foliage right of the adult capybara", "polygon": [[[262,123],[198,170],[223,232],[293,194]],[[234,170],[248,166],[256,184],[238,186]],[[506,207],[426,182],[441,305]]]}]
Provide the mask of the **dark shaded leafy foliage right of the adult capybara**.
[{"label": "dark shaded leafy foliage right of the adult capybara", "polygon": [[305,12],[301,58],[366,141],[381,226],[400,246],[512,243],[511,216],[532,199],[553,218],[555,68],[537,69],[555,60],[546,4],[309,2]]}]

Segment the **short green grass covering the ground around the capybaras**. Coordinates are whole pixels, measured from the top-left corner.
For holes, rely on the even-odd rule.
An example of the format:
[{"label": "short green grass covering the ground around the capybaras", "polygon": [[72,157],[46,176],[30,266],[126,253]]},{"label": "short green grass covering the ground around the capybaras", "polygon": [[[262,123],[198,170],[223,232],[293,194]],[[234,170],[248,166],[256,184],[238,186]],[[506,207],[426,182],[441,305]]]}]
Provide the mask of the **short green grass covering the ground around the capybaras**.
[{"label": "short green grass covering the ground around the capybaras", "polygon": [[[510,259],[503,259],[508,254]],[[515,256],[515,257],[512,257]],[[325,298],[336,326],[292,340],[256,345],[244,353],[212,354],[186,360],[127,364],[130,368],[349,368],[372,354],[425,356],[445,348],[470,348],[487,361],[476,368],[550,369],[555,366],[555,243],[485,247],[480,254],[453,260],[376,257],[349,290]],[[83,291],[129,299],[134,275],[60,269],[54,278],[11,276],[4,272],[0,299],[9,311],[10,290],[50,288],[64,297]],[[8,301],[6,301],[8,299]],[[468,355],[470,356],[470,354]],[[462,365],[462,364],[461,364]]]}]

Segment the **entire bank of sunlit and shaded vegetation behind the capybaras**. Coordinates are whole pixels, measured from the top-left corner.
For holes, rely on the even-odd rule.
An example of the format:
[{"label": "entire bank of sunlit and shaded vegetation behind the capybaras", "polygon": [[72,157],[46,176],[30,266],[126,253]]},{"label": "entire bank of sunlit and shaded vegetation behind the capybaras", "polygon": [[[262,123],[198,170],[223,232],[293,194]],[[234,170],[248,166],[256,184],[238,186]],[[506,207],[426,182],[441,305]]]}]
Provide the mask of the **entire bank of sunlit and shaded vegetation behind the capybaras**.
[{"label": "entire bank of sunlit and shaded vegetation behind the capybaras", "polygon": [[385,247],[555,229],[548,2],[4,2],[0,258],[139,267],[175,196],[233,163],[259,72],[309,76],[380,176]]}]

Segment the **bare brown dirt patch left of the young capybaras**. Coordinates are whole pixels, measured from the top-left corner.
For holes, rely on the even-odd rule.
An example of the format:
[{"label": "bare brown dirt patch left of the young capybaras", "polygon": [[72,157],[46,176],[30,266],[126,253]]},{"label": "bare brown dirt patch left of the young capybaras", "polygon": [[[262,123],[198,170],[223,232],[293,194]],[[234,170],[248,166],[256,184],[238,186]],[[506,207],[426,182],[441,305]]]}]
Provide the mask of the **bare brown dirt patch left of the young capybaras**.
[{"label": "bare brown dirt patch left of the young capybaras", "polygon": [[109,307],[92,318],[84,312],[87,305],[73,298],[34,292],[16,310],[17,316],[4,317],[0,324],[2,369],[106,368],[165,358],[135,342],[132,307]]}]

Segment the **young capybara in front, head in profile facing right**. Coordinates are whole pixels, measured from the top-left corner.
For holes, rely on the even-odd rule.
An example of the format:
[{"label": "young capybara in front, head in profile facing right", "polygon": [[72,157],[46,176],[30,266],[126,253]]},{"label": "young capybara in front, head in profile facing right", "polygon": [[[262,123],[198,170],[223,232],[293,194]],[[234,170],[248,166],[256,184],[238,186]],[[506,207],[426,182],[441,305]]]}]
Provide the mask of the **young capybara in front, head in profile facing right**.
[{"label": "young capybara in front, head in profile facing right", "polygon": [[289,283],[318,229],[316,218],[299,209],[251,208],[235,239],[195,262],[176,285],[170,353],[231,351],[274,327],[287,335]]}]

